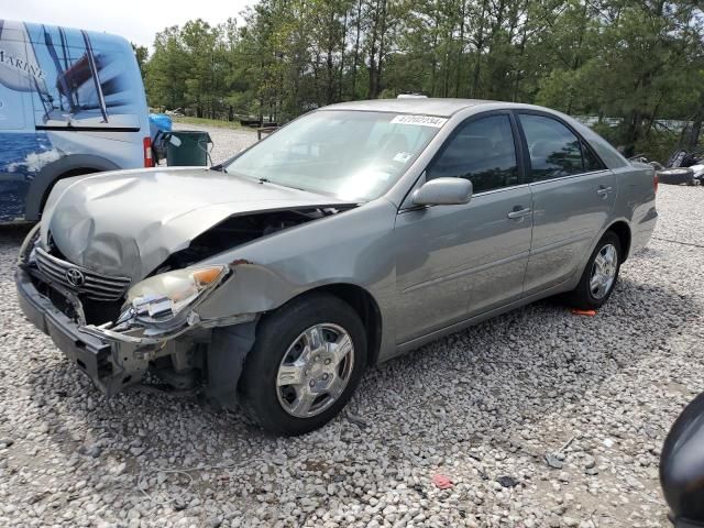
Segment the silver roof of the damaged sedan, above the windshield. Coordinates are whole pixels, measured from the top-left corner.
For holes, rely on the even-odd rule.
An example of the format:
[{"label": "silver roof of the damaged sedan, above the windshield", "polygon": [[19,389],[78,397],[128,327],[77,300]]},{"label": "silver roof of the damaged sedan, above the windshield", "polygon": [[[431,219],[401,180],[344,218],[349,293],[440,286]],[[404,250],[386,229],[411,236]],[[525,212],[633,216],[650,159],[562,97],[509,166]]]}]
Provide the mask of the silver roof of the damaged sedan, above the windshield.
[{"label": "silver roof of the damaged sedan, above the windshield", "polygon": [[466,108],[484,105],[502,105],[512,107],[510,102],[487,101],[482,99],[450,99],[413,97],[402,99],[373,99],[369,101],[339,102],[320,110],[358,110],[366,112],[419,113],[449,118]]}]

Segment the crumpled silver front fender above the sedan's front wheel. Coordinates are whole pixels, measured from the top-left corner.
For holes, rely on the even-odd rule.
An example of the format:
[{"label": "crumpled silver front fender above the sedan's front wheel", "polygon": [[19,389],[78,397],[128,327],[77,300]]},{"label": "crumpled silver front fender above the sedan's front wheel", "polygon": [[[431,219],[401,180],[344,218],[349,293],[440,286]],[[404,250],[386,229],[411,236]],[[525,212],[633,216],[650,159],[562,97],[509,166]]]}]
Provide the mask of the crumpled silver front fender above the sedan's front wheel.
[{"label": "crumpled silver front fender above the sedan's front wheel", "polygon": [[209,257],[199,264],[227,263],[233,273],[196,311],[201,320],[256,315],[316,288],[353,285],[380,309],[383,359],[395,350],[395,218],[380,199]]}]

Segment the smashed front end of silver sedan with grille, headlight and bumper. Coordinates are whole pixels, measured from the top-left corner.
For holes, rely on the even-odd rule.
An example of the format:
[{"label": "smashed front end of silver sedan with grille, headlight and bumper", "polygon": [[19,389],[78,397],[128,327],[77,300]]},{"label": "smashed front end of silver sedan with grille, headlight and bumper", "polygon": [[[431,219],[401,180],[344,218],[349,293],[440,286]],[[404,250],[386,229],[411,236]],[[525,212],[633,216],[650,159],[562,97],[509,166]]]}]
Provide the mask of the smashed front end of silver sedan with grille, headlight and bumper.
[{"label": "smashed front end of silver sedan with grille, headlight and bumper", "polygon": [[[116,277],[98,276],[50,254],[38,242],[37,229],[19,255],[20,306],[107,396],[139,383],[147,371],[177,389],[207,383],[202,352],[211,344],[212,329],[257,317],[202,319],[198,314],[237,264],[162,273],[120,292]],[[101,322],[106,318],[113,320]]]}]

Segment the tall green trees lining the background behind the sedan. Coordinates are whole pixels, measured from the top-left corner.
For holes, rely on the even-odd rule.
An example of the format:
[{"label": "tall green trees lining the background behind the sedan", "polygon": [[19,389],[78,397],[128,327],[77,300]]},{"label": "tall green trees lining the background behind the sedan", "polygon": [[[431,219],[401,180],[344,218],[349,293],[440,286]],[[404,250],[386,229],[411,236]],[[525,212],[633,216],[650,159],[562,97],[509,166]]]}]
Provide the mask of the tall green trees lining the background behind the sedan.
[{"label": "tall green trees lining the background behind the sedan", "polygon": [[704,119],[701,0],[260,0],[242,15],[158,33],[150,103],[283,122],[402,92],[536,102],[618,118],[628,150],[663,119],[693,120],[695,142]]}]

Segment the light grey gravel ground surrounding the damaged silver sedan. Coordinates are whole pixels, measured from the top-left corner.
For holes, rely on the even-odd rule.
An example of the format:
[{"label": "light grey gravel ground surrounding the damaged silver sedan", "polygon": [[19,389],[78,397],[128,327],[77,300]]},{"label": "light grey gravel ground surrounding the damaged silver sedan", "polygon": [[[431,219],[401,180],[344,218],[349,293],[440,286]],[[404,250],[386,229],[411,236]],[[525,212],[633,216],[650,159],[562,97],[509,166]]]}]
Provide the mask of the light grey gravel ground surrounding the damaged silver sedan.
[{"label": "light grey gravel ground surrounding the damaged silver sedan", "polygon": [[543,301],[439,340],[295,439],[144,388],[106,402],[21,316],[25,230],[0,231],[0,526],[667,526],[660,447],[704,389],[704,189],[660,189],[596,317]]}]

